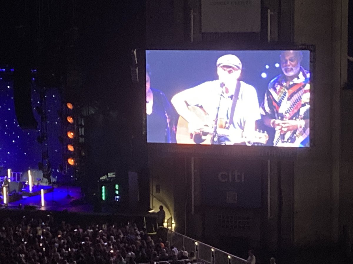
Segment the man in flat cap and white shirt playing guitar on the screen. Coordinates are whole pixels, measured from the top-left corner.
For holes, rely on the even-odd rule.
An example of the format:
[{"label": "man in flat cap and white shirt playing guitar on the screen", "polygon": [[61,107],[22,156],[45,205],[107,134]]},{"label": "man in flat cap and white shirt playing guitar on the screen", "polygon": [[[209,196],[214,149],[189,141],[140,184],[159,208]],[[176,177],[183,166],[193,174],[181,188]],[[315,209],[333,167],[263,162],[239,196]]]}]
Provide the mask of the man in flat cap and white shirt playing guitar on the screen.
[{"label": "man in flat cap and white shirt playing guitar on the screen", "polygon": [[[257,93],[254,87],[239,81],[242,69],[239,58],[224,55],[217,59],[216,66],[219,80],[186,89],[171,100],[179,115],[189,124],[188,132],[193,139],[193,142],[190,137],[189,140],[187,137],[178,140],[177,136],[178,143],[245,144],[251,139],[244,138],[244,134],[255,133],[255,121],[261,119]],[[193,138],[206,134],[212,135],[211,140],[197,142]]]}]

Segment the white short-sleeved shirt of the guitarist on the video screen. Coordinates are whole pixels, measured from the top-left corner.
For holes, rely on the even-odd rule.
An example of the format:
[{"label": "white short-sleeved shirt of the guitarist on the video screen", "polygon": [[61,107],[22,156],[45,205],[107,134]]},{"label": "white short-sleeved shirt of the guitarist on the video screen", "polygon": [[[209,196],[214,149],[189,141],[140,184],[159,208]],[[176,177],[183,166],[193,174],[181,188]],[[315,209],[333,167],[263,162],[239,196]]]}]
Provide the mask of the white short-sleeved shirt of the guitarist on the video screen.
[{"label": "white short-sleeved shirt of the guitarist on the video screen", "polygon": [[[232,94],[222,95],[222,88],[220,80],[209,81],[199,84],[198,86],[186,89],[182,94],[185,102],[188,105],[202,106],[210,117],[215,118],[217,114],[217,107],[220,103],[219,118],[224,118],[229,122]],[[221,100],[221,102],[220,102]],[[257,93],[253,86],[240,81],[240,91],[235,106],[233,125],[229,129],[234,129],[240,133],[244,131],[246,123],[252,123],[255,126],[255,121],[261,119],[260,107],[257,99]]]}]

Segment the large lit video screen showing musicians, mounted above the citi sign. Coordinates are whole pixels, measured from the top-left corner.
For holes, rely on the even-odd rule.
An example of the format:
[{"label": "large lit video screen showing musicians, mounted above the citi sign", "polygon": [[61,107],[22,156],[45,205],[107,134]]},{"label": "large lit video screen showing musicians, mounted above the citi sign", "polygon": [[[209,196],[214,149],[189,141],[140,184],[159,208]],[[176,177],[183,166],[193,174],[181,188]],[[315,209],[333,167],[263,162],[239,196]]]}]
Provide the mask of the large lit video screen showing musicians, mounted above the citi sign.
[{"label": "large lit video screen showing musicians, mounted above the citi sign", "polygon": [[146,50],[148,143],[309,147],[309,50]]}]

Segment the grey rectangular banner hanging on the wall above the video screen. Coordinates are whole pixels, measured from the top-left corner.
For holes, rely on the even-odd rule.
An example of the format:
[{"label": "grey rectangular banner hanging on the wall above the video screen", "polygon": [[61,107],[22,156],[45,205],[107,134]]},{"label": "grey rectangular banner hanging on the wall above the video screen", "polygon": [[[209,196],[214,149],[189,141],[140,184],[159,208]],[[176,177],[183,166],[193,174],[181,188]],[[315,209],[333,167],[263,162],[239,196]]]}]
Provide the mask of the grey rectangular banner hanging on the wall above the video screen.
[{"label": "grey rectangular banner hanging on the wall above the video screen", "polygon": [[202,32],[260,32],[260,0],[202,0]]}]

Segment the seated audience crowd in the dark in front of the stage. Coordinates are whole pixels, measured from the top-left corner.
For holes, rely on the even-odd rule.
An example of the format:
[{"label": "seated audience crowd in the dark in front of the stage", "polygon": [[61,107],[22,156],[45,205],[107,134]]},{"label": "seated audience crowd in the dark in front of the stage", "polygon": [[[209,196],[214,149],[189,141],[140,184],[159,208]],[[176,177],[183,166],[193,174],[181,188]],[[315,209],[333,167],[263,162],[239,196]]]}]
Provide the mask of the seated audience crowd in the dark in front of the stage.
[{"label": "seated audience crowd in the dark in front of the stage", "polygon": [[134,225],[71,225],[40,218],[0,221],[2,264],[129,264],[165,260],[196,262],[194,252],[178,250],[168,241],[156,243],[146,229]]}]

